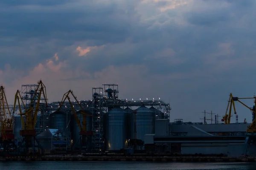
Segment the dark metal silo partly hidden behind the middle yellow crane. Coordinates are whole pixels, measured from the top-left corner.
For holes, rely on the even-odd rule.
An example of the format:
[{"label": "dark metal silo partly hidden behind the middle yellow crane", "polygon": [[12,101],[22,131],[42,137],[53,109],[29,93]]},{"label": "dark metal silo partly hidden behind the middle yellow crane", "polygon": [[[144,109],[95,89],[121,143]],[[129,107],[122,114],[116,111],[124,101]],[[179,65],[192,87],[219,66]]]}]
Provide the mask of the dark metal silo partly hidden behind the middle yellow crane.
[{"label": "dark metal silo partly hidden behind the middle yellow crane", "polygon": [[[92,115],[92,113],[90,111],[86,111],[87,114]],[[81,111],[77,111],[76,115],[78,117],[78,119],[80,120],[80,125],[82,126],[82,122],[83,122],[83,114],[81,113]],[[80,128],[76,122],[76,118],[74,116],[74,114],[72,114],[71,116],[71,124],[72,124],[72,130],[71,130],[71,139],[73,140],[73,144],[76,144],[77,147],[80,146],[79,142],[79,138],[80,138]],[[92,116],[86,116],[86,130],[90,131],[92,130],[93,127],[93,118]],[[91,145],[91,136],[87,136],[87,147],[90,147]]]}]

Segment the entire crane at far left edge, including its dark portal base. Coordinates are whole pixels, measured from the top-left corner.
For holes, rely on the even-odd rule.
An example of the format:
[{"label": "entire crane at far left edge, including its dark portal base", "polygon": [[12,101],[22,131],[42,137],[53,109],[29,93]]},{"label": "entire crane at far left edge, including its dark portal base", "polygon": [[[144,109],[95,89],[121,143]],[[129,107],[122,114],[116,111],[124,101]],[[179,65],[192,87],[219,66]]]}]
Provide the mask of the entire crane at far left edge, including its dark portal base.
[{"label": "entire crane at far left edge, including its dark portal base", "polygon": [[14,151],[13,117],[6,100],[3,85],[0,86],[0,151],[10,153]]}]

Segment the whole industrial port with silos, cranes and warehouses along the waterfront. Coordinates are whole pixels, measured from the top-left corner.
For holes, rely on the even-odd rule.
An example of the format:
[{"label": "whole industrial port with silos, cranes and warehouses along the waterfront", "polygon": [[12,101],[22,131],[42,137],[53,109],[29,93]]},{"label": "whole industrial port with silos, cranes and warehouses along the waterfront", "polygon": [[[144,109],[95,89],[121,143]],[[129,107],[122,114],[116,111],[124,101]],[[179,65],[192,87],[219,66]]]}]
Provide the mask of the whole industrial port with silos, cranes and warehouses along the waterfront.
[{"label": "whole industrial port with silos, cranes and warehouses along the waterfront", "polygon": [[[206,116],[204,122],[170,122],[170,104],[160,98],[130,101],[119,99],[118,94],[117,84],[103,84],[92,88],[91,100],[79,100],[69,90],[61,102],[48,102],[40,80],[22,85],[14,105],[9,105],[1,86],[0,156],[5,160],[80,160],[78,156],[82,156],[98,161],[157,161],[155,156],[162,156],[169,161],[196,161],[195,157],[216,161],[256,153],[255,106],[241,101],[255,102],[256,97],[230,94],[221,122],[216,115],[215,123],[211,118],[211,124],[207,124]],[[232,111],[236,114],[235,102],[252,112],[251,124],[230,123]]]}]

